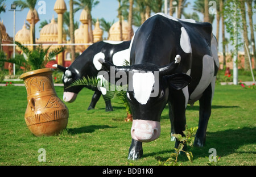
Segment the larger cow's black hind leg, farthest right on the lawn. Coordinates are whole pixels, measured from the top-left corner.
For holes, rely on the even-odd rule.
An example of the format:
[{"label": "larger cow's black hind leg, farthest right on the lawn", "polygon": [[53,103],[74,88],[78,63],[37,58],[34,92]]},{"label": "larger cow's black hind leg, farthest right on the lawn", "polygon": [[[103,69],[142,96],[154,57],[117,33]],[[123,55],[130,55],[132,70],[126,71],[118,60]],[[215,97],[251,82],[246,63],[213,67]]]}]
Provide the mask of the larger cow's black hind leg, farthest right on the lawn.
[{"label": "larger cow's black hind leg, farthest right on the lawn", "polygon": [[212,90],[214,90],[214,88],[212,88],[212,85],[214,87],[214,82],[207,87],[207,89],[203,92],[203,95],[199,100],[199,125],[196,132],[194,146],[203,147],[205,143],[206,130],[212,107]]}]

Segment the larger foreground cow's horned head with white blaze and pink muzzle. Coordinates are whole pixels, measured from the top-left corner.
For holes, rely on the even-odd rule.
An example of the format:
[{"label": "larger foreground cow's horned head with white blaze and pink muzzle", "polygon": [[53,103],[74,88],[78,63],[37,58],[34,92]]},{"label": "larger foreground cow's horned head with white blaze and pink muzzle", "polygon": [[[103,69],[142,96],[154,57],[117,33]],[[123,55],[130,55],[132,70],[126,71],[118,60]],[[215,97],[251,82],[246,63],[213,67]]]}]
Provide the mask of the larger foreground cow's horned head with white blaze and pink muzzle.
[{"label": "larger foreground cow's horned head with white blaze and pink muzzle", "polygon": [[126,73],[123,77],[126,75],[129,83],[127,98],[133,112],[131,137],[134,140],[150,142],[160,136],[160,116],[168,102],[169,92],[180,90],[191,82],[189,75],[175,73],[180,60],[177,55],[175,61],[165,66],[115,66],[106,60],[98,60],[110,72],[114,68],[115,73]]}]

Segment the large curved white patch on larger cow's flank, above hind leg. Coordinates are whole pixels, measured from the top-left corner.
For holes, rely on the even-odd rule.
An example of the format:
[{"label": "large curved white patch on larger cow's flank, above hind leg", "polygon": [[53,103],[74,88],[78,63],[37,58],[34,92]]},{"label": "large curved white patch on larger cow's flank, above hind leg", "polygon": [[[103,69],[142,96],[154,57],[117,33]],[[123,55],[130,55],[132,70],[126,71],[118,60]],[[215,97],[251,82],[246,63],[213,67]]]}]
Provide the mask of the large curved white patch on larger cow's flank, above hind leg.
[{"label": "large curved white patch on larger cow's flank, above hind leg", "polygon": [[214,61],[213,57],[205,54],[203,57],[203,71],[199,84],[190,95],[190,99],[194,100],[198,98],[204,90],[209,86],[214,78]]}]

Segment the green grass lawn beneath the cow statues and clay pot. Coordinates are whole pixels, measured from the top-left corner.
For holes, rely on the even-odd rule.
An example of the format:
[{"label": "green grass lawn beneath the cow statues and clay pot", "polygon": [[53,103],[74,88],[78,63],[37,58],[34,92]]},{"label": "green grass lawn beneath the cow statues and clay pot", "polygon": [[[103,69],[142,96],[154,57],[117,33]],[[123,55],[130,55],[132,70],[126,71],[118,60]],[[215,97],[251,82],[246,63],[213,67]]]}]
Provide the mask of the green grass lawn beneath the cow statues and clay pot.
[{"label": "green grass lawn beneath the cow statues and clay pot", "polygon": [[[63,87],[55,87],[63,98]],[[25,87],[0,87],[0,165],[158,165],[174,151],[170,141],[168,108],[161,119],[161,135],[143,144],[144,155],[138,161],[127,160],[131,143],[131,123],[124,121],[125,108],[113,99],[113,112],[105,112],[101,98],[96,109],[87,111],[93,91],[84,89],[69,108],[67,129],[59,136],[35,137],[26,127]],[[193,163],[180,155],[182,165],[207,165],[208,152],[215,148],[221,157],[218,165],[256,165],[256,90],[241,86],[216,86],[212,116],[204,147],[189,147]],[[199,104],[188,106],[187,125],[198,124]],[[46,150],[46,162],[39,162],[38,150]]]}]

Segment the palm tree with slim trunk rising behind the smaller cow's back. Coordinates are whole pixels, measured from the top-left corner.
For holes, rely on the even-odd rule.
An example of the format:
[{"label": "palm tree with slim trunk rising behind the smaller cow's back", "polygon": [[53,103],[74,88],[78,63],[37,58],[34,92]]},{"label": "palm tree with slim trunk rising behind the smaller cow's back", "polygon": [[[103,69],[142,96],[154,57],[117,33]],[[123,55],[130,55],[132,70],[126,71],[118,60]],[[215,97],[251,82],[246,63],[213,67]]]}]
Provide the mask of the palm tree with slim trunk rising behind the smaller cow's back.
[{"label": "palm tree with slim trunk rising behind the smaller cow's back", "polygon": [[73,2],[77,7],[74,9],[74,12],[79,11],[80,9],[85,9],[88,14],[88,26],[89,26],[89,35],[90,39],[93,41],[93,32],[92,32],[92,9],[95,7],[100,1],[94,0],[78,0]]}]

